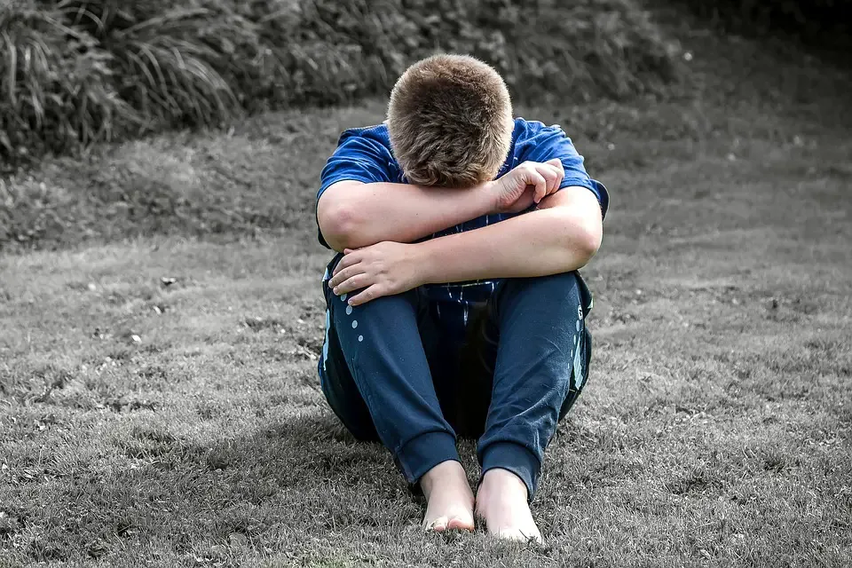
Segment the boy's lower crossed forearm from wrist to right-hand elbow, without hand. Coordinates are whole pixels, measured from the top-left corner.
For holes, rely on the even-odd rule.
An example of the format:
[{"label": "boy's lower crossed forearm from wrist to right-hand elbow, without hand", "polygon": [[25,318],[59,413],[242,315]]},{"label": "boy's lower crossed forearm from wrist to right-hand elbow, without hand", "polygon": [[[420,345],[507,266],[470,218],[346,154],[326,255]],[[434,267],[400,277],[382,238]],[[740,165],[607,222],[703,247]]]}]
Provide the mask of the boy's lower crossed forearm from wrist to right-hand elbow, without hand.
[{"label": "boy's lower crossed forearm from wrist to right-hand elbow, without hand", "polygon": [[[602,239],[600,209],[590,207],[536,209],[495,225],[419,243],[415,246],[423,258],[423,280],[524,278],[577,270],[595,255]],[[598,207],[596,201],[594,207]]]}]

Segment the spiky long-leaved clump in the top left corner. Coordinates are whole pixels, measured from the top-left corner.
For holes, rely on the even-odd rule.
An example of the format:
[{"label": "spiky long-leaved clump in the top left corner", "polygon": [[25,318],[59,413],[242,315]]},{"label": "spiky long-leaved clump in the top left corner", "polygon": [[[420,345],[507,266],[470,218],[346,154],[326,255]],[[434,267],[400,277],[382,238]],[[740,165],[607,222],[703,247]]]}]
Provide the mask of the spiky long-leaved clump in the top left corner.
[{"label": "spiky long-leaved clump in the top left corner", "polygon": [[65,15],[26,0],[0,8],[0,157],[62,152],[138,120],[110,54]]}]

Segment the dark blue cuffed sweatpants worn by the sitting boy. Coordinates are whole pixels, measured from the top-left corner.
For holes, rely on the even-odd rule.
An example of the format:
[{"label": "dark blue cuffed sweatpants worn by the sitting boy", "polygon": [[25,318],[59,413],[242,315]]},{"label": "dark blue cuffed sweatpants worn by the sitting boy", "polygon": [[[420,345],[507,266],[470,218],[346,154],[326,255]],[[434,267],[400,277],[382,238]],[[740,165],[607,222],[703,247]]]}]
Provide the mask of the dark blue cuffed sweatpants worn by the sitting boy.
[{"label": "dark blue cuffed sweatpants worn by the sitting boy", "polygon": [[441,328],[424,288],[356,307],[325,279],[323,292],[322,390],[356,438],[381,440],[409,483],[458,461],[457,437],[478,438],[483,473],[509,469],[532,500],[556,422],[588,376],[591,302],[579,273],[501,280],[461,333]]}]

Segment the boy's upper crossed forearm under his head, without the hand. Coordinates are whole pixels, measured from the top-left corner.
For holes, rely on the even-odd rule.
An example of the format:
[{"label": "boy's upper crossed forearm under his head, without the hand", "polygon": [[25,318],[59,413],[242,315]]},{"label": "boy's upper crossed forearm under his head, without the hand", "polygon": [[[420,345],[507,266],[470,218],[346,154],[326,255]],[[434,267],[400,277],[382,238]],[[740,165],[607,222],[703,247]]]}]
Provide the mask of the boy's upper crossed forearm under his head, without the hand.
[{"label": "boy's upper crossed forearm under his head, without the hand", "polygon": [[492,212],[484,187],[447,189],[419,185],[341,182],[319,198],[317,217],[336,250],[381,241],[413,242]]}]

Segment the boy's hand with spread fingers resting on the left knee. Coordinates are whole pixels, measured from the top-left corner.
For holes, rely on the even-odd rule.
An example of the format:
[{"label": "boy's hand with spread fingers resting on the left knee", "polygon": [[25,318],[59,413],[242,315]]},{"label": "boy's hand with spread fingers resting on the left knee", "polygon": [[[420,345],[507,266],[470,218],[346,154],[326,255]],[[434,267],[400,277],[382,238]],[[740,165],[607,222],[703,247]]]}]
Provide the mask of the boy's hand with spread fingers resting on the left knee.
[{"label": "boy's hand with spread fingers resting on the left knee", "polygon": [[[423,262],[417,245],[383,241],[369,247],[343,251],[328,286],[335,295],[361,290],[349,299],[350,305],[366,304],[382,296],[402,294],[425,282]],[[362,289],[363,288],[363,289]]]}]

